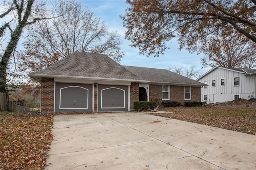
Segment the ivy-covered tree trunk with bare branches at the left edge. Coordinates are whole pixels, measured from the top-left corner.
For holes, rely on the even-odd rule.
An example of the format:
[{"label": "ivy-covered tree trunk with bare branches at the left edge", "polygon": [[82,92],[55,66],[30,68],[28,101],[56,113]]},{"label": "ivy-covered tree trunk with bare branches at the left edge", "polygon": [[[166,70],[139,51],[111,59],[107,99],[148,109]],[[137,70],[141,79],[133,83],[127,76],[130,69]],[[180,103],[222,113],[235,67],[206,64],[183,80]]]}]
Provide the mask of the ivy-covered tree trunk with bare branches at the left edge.
[{"label": "ivy-covered tree trunk with bare branches at the left edge", "polygon": [[[3,53],[0,54],[0,91],[6,93],[7,69],[10,59],[14,57],[16,46],[24,28],[36,23],[36,21],[49,19],[46,16],[45,2],[36,0],[4,0],[0,8],[4,11],[0,14],[1,20],[7,20],[0,27],[0,41]],[[9,20],[9,18],[11,18]],[[9,40],[9,41],[8,41]],[[6,47],[2,42],[8,41]]]}]

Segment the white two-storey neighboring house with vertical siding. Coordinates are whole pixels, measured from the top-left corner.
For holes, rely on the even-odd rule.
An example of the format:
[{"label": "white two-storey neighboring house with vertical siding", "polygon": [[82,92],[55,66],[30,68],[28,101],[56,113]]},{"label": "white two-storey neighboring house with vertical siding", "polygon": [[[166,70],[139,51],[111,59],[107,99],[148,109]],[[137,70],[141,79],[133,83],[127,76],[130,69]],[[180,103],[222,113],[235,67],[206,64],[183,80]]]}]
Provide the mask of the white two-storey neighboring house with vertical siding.
[{"label": "white two-storey neighboring house with vertical siding", "polygon": [[196,80],[208,85],[201,89],[207,103],[256,98],[256,69],[214,67]]}]

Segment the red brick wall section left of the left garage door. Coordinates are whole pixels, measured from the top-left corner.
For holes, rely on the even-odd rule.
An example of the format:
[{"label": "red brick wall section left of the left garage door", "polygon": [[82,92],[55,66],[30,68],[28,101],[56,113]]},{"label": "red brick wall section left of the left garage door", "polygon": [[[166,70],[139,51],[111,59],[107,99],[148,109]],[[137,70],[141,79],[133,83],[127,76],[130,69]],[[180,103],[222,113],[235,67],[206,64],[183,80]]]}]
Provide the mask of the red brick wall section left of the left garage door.
[{"label": "red brick wall section left of the left garage door", "polygon": [[42,77],[41,111],[54,111],[54,78]]}]

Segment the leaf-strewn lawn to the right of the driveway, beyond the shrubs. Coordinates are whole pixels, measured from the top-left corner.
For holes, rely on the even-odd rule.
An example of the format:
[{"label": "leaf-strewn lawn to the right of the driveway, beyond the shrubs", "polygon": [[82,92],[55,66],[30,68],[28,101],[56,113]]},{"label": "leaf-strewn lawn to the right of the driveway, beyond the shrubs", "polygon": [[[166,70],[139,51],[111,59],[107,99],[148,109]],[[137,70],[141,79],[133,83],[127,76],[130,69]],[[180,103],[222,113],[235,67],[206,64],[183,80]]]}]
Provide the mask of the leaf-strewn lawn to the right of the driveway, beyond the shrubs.
[{"label": "leaf-strewn lawn to the right of the driveway, beyond the shrubs", "polygon": [[151,113],[151,115],[256,135],[255,105],[256,103],[216,107],[165,107],[158,110],[170,113]]}]

